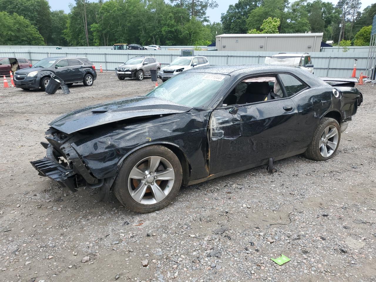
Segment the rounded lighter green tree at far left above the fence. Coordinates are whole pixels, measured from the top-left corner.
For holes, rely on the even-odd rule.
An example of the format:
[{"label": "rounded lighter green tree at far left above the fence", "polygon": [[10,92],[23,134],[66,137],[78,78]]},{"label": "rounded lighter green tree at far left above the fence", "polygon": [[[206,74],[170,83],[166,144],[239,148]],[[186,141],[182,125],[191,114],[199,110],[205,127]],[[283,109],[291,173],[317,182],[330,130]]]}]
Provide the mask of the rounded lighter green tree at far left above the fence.
[{"label": "rounded lighter green tree at far left above the fence", "polygon": [[29,20],[0,12],[0,45],[45,45],[42,35]]}]

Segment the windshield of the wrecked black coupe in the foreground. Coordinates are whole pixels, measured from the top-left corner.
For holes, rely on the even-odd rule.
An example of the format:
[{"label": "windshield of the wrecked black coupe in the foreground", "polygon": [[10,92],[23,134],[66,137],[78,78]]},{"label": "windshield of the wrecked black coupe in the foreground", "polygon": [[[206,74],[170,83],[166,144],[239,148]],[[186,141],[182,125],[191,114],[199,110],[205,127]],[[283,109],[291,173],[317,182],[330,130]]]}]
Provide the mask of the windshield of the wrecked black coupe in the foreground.
[{"label": "windshield of the wrecked black coupe in the foreground", "polygon": [[230,76],[208,73],[182,73],[147,94],[188,107],[200,107],[212,100]]}]

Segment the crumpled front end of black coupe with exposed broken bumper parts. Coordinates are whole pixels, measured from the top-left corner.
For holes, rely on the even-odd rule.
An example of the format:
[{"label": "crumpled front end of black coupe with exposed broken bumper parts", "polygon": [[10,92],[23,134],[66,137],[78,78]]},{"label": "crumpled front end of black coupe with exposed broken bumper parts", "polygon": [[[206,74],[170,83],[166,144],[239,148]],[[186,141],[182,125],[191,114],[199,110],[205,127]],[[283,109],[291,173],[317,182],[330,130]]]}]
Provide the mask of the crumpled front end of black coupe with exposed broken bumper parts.
[{"label": "crumpled front end of black coupe with exposed broken bumper parts", "polygon": [[89,168],[70,145],[70,136],[53,128],[46,134],[48,143],[41,142],[47,150],[46,156],[30,162],[40,176],[48,177],[73,192],[80,186],[91,185],[94,188],[103,185],[103,179],[92,176]]}]

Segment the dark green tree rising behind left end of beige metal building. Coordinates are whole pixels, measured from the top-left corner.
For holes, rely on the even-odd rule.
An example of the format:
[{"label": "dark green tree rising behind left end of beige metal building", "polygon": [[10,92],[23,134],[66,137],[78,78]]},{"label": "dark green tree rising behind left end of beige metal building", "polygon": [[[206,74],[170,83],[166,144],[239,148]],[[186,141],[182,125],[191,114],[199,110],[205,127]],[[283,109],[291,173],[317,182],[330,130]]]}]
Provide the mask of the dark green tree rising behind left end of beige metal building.
[{"label": "dark green tree rising behind left end of beige metal building", "polygon": [[224,33],[246,33],[246,23],[249,14],[256,9],[261,1],[239,0],[235,5],[229,5],[227,12],[221,15]]}]

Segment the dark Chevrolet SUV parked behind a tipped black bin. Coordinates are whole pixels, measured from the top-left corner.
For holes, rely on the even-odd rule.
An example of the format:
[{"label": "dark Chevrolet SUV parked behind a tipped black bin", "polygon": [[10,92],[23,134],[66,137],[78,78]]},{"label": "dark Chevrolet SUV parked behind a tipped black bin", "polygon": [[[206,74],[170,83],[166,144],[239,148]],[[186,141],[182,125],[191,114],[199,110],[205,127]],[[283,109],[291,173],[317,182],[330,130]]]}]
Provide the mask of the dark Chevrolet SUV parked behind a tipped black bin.
[{"label": "dark Chevrolet SUV parked behind a tipped black bin", "polygon": [[83,83],[85,86],[91,86],[97,78],[95,66],[87,58],[53,57],[42,59],[31,68],[16,71],[14,83],[22,89],[45,90],[54,74],[67,85]]}]

